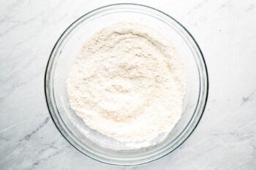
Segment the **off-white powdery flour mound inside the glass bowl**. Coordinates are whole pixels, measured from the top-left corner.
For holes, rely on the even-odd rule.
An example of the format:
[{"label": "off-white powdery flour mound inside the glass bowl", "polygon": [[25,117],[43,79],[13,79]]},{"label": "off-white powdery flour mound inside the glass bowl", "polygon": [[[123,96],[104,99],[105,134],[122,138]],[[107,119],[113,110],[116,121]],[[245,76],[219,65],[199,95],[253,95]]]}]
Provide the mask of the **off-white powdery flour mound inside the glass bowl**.
[{"label": "off-white powdery flour mound inside the glass bowl", "polygon": [[138,23],[94,34],[67,77],[70,107],[90,128],[121,142],[170,132],[181,117],[185,85],[175,47]]}]

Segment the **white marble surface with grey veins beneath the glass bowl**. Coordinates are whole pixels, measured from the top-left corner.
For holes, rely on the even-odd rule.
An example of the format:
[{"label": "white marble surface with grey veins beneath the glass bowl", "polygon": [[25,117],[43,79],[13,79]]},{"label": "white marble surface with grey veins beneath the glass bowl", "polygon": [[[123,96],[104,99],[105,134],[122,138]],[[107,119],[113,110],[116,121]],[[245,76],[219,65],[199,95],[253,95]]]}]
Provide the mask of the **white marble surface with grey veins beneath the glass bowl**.
[{"label": "white marble surface with grey veins beneath the glass bowl", "polygon": [[[176,151],[143,166],[86,157],[61,136],[44,74],[61,33],[108,1],[0,1],[0,169],[256,169],[256,1],[128,1],[167,12],[195,36],[210,77],[206,111]],[[127,2],[127,1],[126,1]]]}]

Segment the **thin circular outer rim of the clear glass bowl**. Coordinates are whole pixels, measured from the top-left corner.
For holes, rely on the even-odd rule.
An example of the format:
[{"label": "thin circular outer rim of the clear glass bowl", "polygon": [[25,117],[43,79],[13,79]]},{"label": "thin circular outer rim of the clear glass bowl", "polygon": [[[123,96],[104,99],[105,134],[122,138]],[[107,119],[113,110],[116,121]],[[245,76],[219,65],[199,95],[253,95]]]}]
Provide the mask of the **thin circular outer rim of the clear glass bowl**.
[{"label": "thin circular outer rim of the clear glass bowl", "polygon": [[[104,9],[104,8],[108,8],[108,7],[113,7],[113,6],[121,6],[121,5],[127,5],[127,6],[137,6],[137,7],[146,7],[148,9],[153,9],[154,11],[157,11],[157,12],[160,12],[162,15],[165,15],[167,16],[168,18],[170,18],[171,20],[174,20],[178,26],[181,26],[182,29],[184,29],[184,31],[188,34],[188,36],[192,39],[192,42],[195,43],[195,47],[197,48],[196,51],[199,52],[199,58],[200,58],[200,62],[201,64],[203,65],[203,74],[204,74],[204,78],[205,78],[205,81],[203,82],[204,86],[205,86],[205,89],[203,91],[203,96],[202,96],[202,101],[203,101],[203,104],[201,104],[200,106],[200,115],[199,117],[195,117],[197,119],[197,121],[195,121],[195,124],[193,125],[190,125],[192,128],[190,128],[190,131],[187,131],[185,134],[184,134],[184,139],[182,139],[183,141],[181,141],[180,143],[178,143],[175,147],[173,147],[172,150],[169,150],[168,152],[166,152],[165,154],[162,154],[160,155],[159,157],[157,158],[154,158],[152,157],[150,160],[148,161],[145,161],[144,159],[141,159],[140,163],[122,163],[120,161],[114,163],[113,160],[107,160],[107,158],[103,158],[97,155],[95,155],[94,153],[91,153],[89,154],[89,150],[86,150],[87,152],[83,152],[81,149],[80,149],[80,146],[77,145],[75,146],[74,143],[76,143],[73,139],[69,139],[69,134],[67,134],[67,132],[64,130],[63,127],[61,127],[61,123],[59,123],[59,119],[56,118],[56,114],[54,112],[54,109],[53,109],[53,105],[52,105],[52,102],[51,102],[51,99],[50,99],[50,93],[48,91],[48,85],[50,84],[49,83],[49,77],[50,77],[50,68],[52,67],[52,61],[54,59],[53,55],[55,54],[55,52],[57,51],[56,50],[56,47],[58,47],[59,45],[59,42],[61,42],[61,40],[63,40],[63,36],[65,34],[68,34],[69,32],[72,31],[69,30],[70,28],[72,28],[72,26],[74,26],[75,23],[77,23],[80,19],[82,18],[85,18],[87,15],[90,15],[91,13],[93,12],[96,12],[98,11],[99,9]],[[79,23],[78,23],[79,24]],[[50,53],[50,57],[48,59],[48,63],[46,65],[46,69],[45,69],[45,83],[44,83],[44,90],[45,90],[45,100],[46,100],[46,104],[47,104],[47,107],[48,107],[48,111],[50,113],[50,117],[52,118],[53,120],[53,123],[56,125],[56,128],[59,130],[59,132],[61,133],[62,136],[64,136],[64,139],[67,140],[67,142],[69,142],[69,144],[72,145],[72,147],[75,147],[76,150],[78,150],[79,152],[83,153],[83,155],[86,155],[88,156],[89,158],[92,158],[96,161],[99,161],[99,162],[102,162],[102,163],[107,163],[107,164],[110,164],[110,165],[116,165],[116,166],[137,166],[137,165],[141,165],[141,164],[145,164],[145,163],[150,163],[152,161],[157,161],[158,159],[160,158],[163,158],[165,157],[166,155],[170,154],[170,152],[173,152],[174,150],[176,150],[179,146],[181,146],[181,144],[183,144],[188,138],[189,136],[192,134],[193,131],[195,131],[195,128],[197,127],[198,123],[200,122],[200,119],[202,118],[203,116],[203,112],[205,111],[206,109],[206,104],[207,104],[207,100],[208,100],[208,90],[209,90],[209,80],[208,80],[208,69],[207,69],[207,65],[206,65],[206,61],[205,61],[205,58],[203,56],[203,53],[202,53],[202,50],[200,49],[198,43],[196,42],[195,38],[192,36],[192,34],[190,34],[190,32],[187,30],[187,28],[185,28],[181,23],[178,22],[178,20],[176,20],[175,18],[171,17],[170,15],[167,15],[165,12],[162,12],[161,10],[159,9],[156,9],[154,7],[149,7],[147,5],[144,5],[144,4],[135,4],[135,3],[117,3],[117,4],[108,4],[108,5],[105,5],[105,6],[102,6],[102,7],[98,7],[97,9],[93,9],[91,10],[90,12],[87,12],[86,14],[82,15],[80,18],[78,18],[77,20],[73,21],[64,31],[63,33],[61,34],[61,36],[59,36],[59,39],[56,41],[55,45],[53,46],[53,50],[51,50],[51,53]],[[198,98],[198,101],[199,101],[200,97]],[[197,103],[198,105],[198,103]],[[198,106],[196,107],[195,110],[197,110]],[[194,117],[192,117],[193,119]],[[192,121],[192,119],[190,121]],[[188,124],[189,125],[189,124]],[[68,128],[67,128],[68,129]],[[68,129],[69,130],[69,129]],[[70,131],[71,132],[71,131]],[[71,132],[72,133],[72,132]],[[181,140],[179,139],[179,140]],[[72,141],[72,142],[71,142]],[[170,149],[170,148],[167,148],[167,149]],[[93,156],[92,156],[93,155]],[[104,161],[103,161],[104,160]]]}]

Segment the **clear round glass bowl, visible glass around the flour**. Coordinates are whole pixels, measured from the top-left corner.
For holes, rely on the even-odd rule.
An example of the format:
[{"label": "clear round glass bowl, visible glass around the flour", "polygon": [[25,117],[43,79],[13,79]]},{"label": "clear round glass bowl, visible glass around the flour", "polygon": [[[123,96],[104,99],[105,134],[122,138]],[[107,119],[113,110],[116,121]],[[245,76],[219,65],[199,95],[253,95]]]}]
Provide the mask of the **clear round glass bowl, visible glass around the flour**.
[{"label": "clear round glass bowl, visible glass around the flour", "polygon": [[[67,71],[84,42],[99,29],[118,22],[135,22],[154,28],[176,46],[187,73],[183,112],[173,131],[151,147],[127,149],[125,145],[90,129],[69,107]],[[50,55],[45,73],[45,95],[50,115],[61,134],[76,149],[97,161],[138,165],[162,158],[182,144],[195,129],[206,106],[208,75],[197,42],[178,21],[140,4],[113,4],[95,9],[72,23]]]}]

